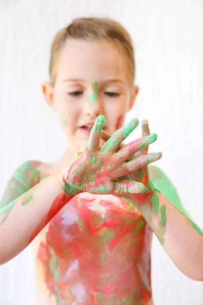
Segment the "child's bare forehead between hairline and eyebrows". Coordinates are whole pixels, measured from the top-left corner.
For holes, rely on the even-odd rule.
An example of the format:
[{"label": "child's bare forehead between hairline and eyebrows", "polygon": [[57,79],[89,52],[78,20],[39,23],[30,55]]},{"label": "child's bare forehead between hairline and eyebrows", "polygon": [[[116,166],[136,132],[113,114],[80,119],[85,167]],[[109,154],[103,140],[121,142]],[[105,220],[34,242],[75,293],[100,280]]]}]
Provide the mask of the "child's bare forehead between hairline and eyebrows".
[{"label": "child's bare forehead between hairline and eyebrows", "polygon": [[58,58],[58,78],[83,78],[89,81],[104,77],[127,77],[125,58],[118,47],[105,40],[69,39]]}]

